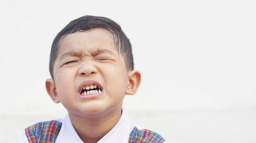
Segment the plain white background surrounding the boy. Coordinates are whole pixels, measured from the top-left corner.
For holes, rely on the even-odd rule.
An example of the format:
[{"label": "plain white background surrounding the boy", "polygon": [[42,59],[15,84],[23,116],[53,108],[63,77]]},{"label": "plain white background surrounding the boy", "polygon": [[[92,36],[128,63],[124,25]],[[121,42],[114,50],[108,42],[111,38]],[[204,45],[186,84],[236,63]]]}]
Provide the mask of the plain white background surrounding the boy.
[{"label": "plain white background surrounding the boy", "polygon": [[45,90],[56,34],[83,15],[119,23],[142,73],[123,107],[168,142],[256,142],[255,1],[0,1],[0,142],[63,118]]}]

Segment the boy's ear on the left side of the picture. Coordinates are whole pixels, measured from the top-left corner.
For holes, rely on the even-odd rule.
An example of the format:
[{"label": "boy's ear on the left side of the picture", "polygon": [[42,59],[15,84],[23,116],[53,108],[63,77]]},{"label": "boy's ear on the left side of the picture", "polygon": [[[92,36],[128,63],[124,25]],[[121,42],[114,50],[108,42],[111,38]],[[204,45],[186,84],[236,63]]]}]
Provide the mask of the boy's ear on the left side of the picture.
[{"label": "boy's ear on the left side of the picture", "polygon": [[55,86],[53,79],[46,80],[46,90],[47,90],[47,93],[49,94],[49,96],[52,98],[53,102],[55,102],[55,103],[60,102],[59,96],[56,92],[56,86]]}]

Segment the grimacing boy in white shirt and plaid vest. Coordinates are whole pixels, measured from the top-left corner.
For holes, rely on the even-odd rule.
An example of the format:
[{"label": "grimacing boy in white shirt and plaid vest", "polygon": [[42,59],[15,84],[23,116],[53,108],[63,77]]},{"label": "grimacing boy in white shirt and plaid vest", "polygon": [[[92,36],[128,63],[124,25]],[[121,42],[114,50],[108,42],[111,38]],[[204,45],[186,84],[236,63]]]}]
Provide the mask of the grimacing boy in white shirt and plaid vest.
[{"label": "grimacing boy in white shirt and plaid vest", "polygon": [[129,39],[111,19],[83,16],[63,28],[52,44],[50,74],[47,92],[68,115],[26,128],[16,142],[166,142],[131,124],[122,111],[141,74]]}]

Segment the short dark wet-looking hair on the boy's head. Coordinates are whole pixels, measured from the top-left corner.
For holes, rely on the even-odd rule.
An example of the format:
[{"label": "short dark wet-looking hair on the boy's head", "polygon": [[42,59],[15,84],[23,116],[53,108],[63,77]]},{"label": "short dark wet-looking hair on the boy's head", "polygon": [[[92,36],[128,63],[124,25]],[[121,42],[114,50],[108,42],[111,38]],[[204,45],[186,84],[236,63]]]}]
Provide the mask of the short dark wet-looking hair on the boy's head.
[{"label": "short dark wet-looking hair on the boy's head", "polygon": [[130,40],[123,33],[121,26],[106,17],[86,15],[71,21],[53,40],[49,63],[49,70],[52,79],[54,79],[54,63],[58,55],[60,40],[65,38],[68,34],[84,32],[94,28],[103,28],[111,32],[118,54],[121,53],[124,58],[126,70],[134,69],[132,45]]}]

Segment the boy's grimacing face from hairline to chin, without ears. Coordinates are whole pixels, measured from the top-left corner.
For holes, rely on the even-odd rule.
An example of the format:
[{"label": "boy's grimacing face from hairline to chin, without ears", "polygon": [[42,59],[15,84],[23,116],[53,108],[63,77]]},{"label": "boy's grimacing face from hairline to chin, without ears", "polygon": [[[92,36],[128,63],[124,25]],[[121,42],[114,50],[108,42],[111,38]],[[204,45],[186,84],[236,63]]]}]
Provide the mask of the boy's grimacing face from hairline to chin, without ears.
[{"label": "boy's grimacing face from hairline to chin, without ears", "polygon": [[[90,115],[120,109],[129,79],[111,33],[96,28],[68,34],[59,46],[54,64],[55,91],[68,112]],[[90,85],[97,86],[90,89],[92,93],[81,93]]]}]

